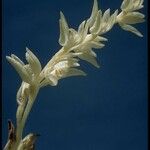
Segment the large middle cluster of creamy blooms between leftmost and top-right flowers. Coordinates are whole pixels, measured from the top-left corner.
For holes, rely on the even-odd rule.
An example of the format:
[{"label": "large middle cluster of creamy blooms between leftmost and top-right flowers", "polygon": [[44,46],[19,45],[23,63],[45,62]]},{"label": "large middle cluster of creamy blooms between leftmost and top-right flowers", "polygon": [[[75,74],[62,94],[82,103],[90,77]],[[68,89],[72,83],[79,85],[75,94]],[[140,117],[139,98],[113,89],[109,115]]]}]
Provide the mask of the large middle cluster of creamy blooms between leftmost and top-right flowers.
[{"label": "large middle cluster of creamy blooms between leftmost and top-right flowers", "polygon": [[59,79],[75,76],[86,75],[83,71],[75,68],[80,66],[79,60],[84,60],[95,67],[99,67],[96,60],[94,49],[103,48],[103,41],[106,38],[101,35],[109,31],[116,22],[118,11],[110,15],[110,9],[102,14],[98,10],[97,1],[94,0],[94,5],[90,18],[84,20],[78,27],[78,30],[69,28],[65,16],[60,12],[60,37],[59,44],[62,49],[48,62],[42,71],[45,76],[42,86],[49,83],[57,85]]}]

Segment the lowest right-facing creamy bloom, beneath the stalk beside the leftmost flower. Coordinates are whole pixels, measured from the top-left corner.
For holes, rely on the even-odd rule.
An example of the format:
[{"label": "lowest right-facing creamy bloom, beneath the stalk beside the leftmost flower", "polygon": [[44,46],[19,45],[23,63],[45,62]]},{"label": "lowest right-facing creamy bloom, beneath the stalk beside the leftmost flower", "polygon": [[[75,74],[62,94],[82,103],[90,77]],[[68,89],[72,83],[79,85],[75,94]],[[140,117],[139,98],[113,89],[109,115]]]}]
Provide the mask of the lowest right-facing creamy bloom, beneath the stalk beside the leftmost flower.
[{"label": "lowest right-facing creamy bloom, beneath the stalk beside the leftmost flower", "polygon": [[42,71],[42,76],[44,80],[40,83],[41,86],[46,86],[48,84],[56,86],[59,79],[70,77],[70,76],[85,76],[86,74],[75,67],[79,67],[79,59],[75,58],[80,53],[70,52],[63,57],[57,57],[55,59],[54,65],[47,66]]}]

